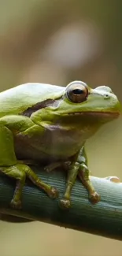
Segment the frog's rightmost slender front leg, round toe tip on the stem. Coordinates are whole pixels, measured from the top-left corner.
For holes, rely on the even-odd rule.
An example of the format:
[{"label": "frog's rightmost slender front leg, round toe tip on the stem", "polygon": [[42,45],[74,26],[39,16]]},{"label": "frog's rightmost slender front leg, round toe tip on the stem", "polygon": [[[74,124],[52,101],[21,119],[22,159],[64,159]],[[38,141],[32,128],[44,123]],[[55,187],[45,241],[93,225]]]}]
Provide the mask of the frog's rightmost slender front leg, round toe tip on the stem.
[{"label": "frog's rightmost slender front leg, round toe tip on the stem", "polygon": [[80,165],[78,176],[79,176],[79,179],[82,181],[83,186],[87,188],[90,201],[92,203],[99,202],[100,195],[98,195],[98,192],[95,191],[94,186],[90,180],[90,171],[87,166],[87,155],[84,147],[79,151],[79,156],[77,158],[77,161],[79,162],[79,165]]}]

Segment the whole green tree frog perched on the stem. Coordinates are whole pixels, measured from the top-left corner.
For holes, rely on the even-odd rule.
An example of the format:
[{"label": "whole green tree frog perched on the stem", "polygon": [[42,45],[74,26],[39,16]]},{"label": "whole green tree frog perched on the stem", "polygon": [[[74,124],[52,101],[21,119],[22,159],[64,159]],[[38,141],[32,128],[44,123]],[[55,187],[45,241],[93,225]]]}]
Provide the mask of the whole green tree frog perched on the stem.
[{"label": "whole green tree frog perched on the stem", "polygon": [[[77,177],[95,204],[100,195],[91,182],[85,145],[102,125],[120,116],[118,98],[108,86],[91,88],[80,80],[65,86],[23,83],[0,93],[0,172],[16,180],[9,206],[22,209],[26,178],[50,198],[57,187],[41,180],[31,162],[44,171],[67,172],[65,191],[58,200],[62,209],[72,206]],[[30,161],[30,162],[29,162]],[[82,195],[79,195],[82,196]]]}]

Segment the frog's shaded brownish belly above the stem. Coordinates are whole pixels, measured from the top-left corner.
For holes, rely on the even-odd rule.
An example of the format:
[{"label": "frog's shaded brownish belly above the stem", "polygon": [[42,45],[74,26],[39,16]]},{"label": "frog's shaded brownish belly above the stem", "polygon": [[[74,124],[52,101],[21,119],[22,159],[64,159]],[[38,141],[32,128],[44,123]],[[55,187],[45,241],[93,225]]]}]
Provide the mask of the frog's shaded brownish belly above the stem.
[{"label": "frog's shaded brownish belly above the stem", "polygon": [[17,158],[39,161],[67,160],[83,146],[83,132],[46,131],[43,135],[16,135]]}]

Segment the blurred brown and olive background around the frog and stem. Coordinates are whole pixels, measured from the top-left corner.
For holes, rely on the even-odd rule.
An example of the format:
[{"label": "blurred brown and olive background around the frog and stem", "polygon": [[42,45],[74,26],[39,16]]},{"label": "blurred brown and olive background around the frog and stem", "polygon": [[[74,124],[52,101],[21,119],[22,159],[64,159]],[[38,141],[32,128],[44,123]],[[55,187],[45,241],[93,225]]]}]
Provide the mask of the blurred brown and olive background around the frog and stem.
[{"label": "blurred brown and olive background around the frog and stem", "polygon": [[[20,83],[106,84],[122,102],[122,2],[1,0],[0,91]],[[87,142],[94,176],[122,179],[122,121]],[[0,221],[2,256],[120,256],[122,243],[31,222]]]}]

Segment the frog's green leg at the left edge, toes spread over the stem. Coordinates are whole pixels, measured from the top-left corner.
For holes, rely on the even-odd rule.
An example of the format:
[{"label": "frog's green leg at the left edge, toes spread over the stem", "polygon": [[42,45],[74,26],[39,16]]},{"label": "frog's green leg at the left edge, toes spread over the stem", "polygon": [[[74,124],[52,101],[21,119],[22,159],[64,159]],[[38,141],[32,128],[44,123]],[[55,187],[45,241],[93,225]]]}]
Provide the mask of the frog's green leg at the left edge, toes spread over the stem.
[{"label": "frog's green leg at the left edge, toes spread over the stem", "polygon": [[28,165],[17,162],[16,154],[14,152],[13,133],[9,130],[9,128],[6,128],[6,126],[0,126],[0,143],[0,170],[7,176],[17,180],[17,186],[11,201],[12,207],[21,207],[21,195],[26,176],[28,176],[28,178],[37,187],[43,189],[43,191],[46,191],[50,198],[57,197],[58,193],[56,188],[43,183],[43,181],[36,176]]}]

